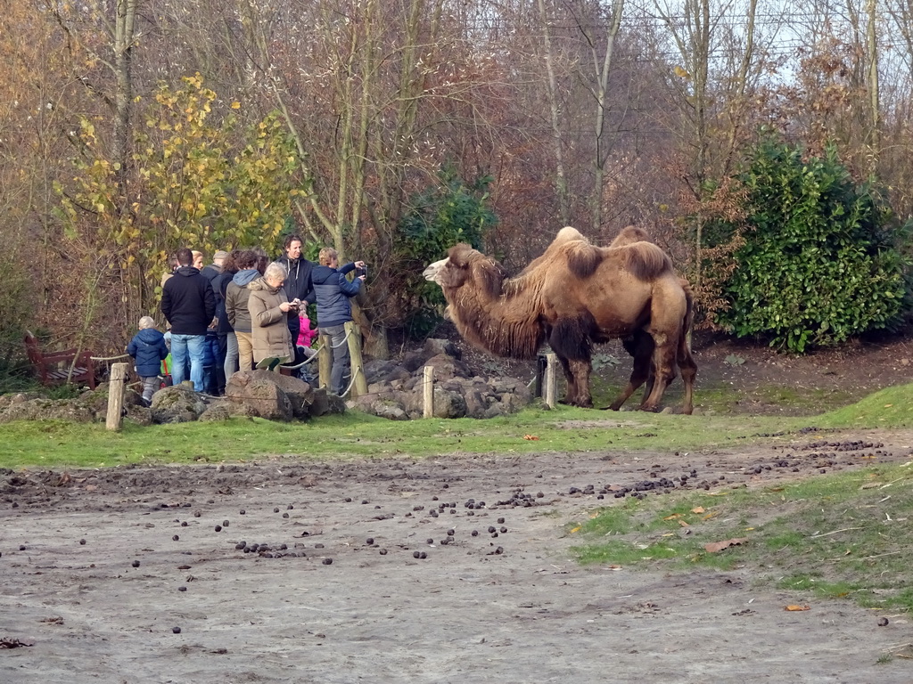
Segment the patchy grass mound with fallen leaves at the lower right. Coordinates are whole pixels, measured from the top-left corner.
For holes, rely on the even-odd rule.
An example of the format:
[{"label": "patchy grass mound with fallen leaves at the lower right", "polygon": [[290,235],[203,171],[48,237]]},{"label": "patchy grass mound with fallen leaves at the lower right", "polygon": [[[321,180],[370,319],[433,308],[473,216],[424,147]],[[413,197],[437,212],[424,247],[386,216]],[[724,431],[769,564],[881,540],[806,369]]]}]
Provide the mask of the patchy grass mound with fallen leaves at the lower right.
[{"label": "patchy grass mound with fallen leaves at the lower right", "polygon": [[[913,463],[757,490],[647,497],[572,527],[584,563],[748,568],[773,586],[913,609]],[[705,544],[747,538],[717,553]]]}]

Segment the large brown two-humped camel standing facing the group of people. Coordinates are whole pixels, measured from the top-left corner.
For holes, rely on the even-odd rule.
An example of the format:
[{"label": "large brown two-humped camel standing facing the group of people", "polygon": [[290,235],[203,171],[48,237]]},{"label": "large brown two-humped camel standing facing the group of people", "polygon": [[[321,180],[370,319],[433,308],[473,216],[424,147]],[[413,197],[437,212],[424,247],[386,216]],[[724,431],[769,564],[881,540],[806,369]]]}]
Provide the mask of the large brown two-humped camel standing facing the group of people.
[{"label": "large brown two-humped camel standing facing the group of people", "polygon": [[656,410],[676,374],[687,295],[668,256],[655,244],[597,247],[563,228],[514,278],[467,244],[425,269],[441,285],[448,315],[471,344],[498,356],[534,358],[546,341],[568,389],[566,402],[593,405],[592,347],[643,329],[653,340],[656,380],[641,405]]}]

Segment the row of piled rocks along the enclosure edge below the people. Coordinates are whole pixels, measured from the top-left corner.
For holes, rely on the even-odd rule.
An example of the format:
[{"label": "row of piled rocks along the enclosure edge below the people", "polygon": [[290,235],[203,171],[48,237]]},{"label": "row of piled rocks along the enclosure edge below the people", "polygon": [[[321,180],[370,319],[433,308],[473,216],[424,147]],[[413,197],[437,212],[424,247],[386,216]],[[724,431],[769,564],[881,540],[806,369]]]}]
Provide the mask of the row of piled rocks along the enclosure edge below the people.
[{"label": "row of piled rocks along the enclosure edge below the people", "polygon": [[[365,364],[368,393],[350,406],[390,420],[422,418],[425,366],[435,369],[436,418],[492,418],[522,409],[532,400],[527,384],[517,378],[473,377],[449,341],[429,339],[420,350],[406,354],[399,363],[369,361]],[[314,389],[298,378],[268,370],[241,371],[229,378],[226,396],[194,392],[189,384],[161,389],[152,406],[142,406],[140,396],[127,389],[125,417],[141,425],[192,420],[227,420],[235,416],[267,420],[308,420],[343,413],[343,399],[326,389]],[[108,385],[87,391],[76,399],[47,399],[37,393],[0,397],[0,422],[10,420],[73,420],[104,422],[108,411]]]}]

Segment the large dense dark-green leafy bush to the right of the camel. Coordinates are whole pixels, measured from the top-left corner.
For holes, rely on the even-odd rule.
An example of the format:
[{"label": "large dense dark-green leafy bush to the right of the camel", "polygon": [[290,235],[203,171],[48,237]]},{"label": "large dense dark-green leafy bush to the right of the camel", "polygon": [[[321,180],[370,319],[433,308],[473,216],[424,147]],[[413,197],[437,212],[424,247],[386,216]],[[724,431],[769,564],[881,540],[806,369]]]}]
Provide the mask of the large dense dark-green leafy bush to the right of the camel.
[{"label": "large dense dark-green leafy bush to the right of the camel", "polygon": [[855,184],[833,146],[804,158],[768,136],[740,181],[747,226],[723,284],[722,326],[803,353],[898,322],[909,226],[892,225],[873,182]]}]

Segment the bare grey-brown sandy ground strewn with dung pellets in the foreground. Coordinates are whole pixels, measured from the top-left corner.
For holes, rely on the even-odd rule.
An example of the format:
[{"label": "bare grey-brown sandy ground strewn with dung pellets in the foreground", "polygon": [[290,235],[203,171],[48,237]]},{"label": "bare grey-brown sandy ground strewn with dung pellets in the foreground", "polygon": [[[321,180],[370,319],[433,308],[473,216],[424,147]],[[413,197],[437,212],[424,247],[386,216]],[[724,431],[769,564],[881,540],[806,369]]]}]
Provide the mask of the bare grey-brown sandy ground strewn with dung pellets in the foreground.
[{"label": "bare grey-brown sandy ground strewn with dung pellets in the foreground", "polygon": [[[913,444],[837,437],[884,441],[876,461]],[[3,472],[0,643],[30,645],[0,648],[0,682],[909,682],[908,660],[877,662],[907,617],[569,553],[606,485],[752,486],[862,455],[817,451]]]}]

